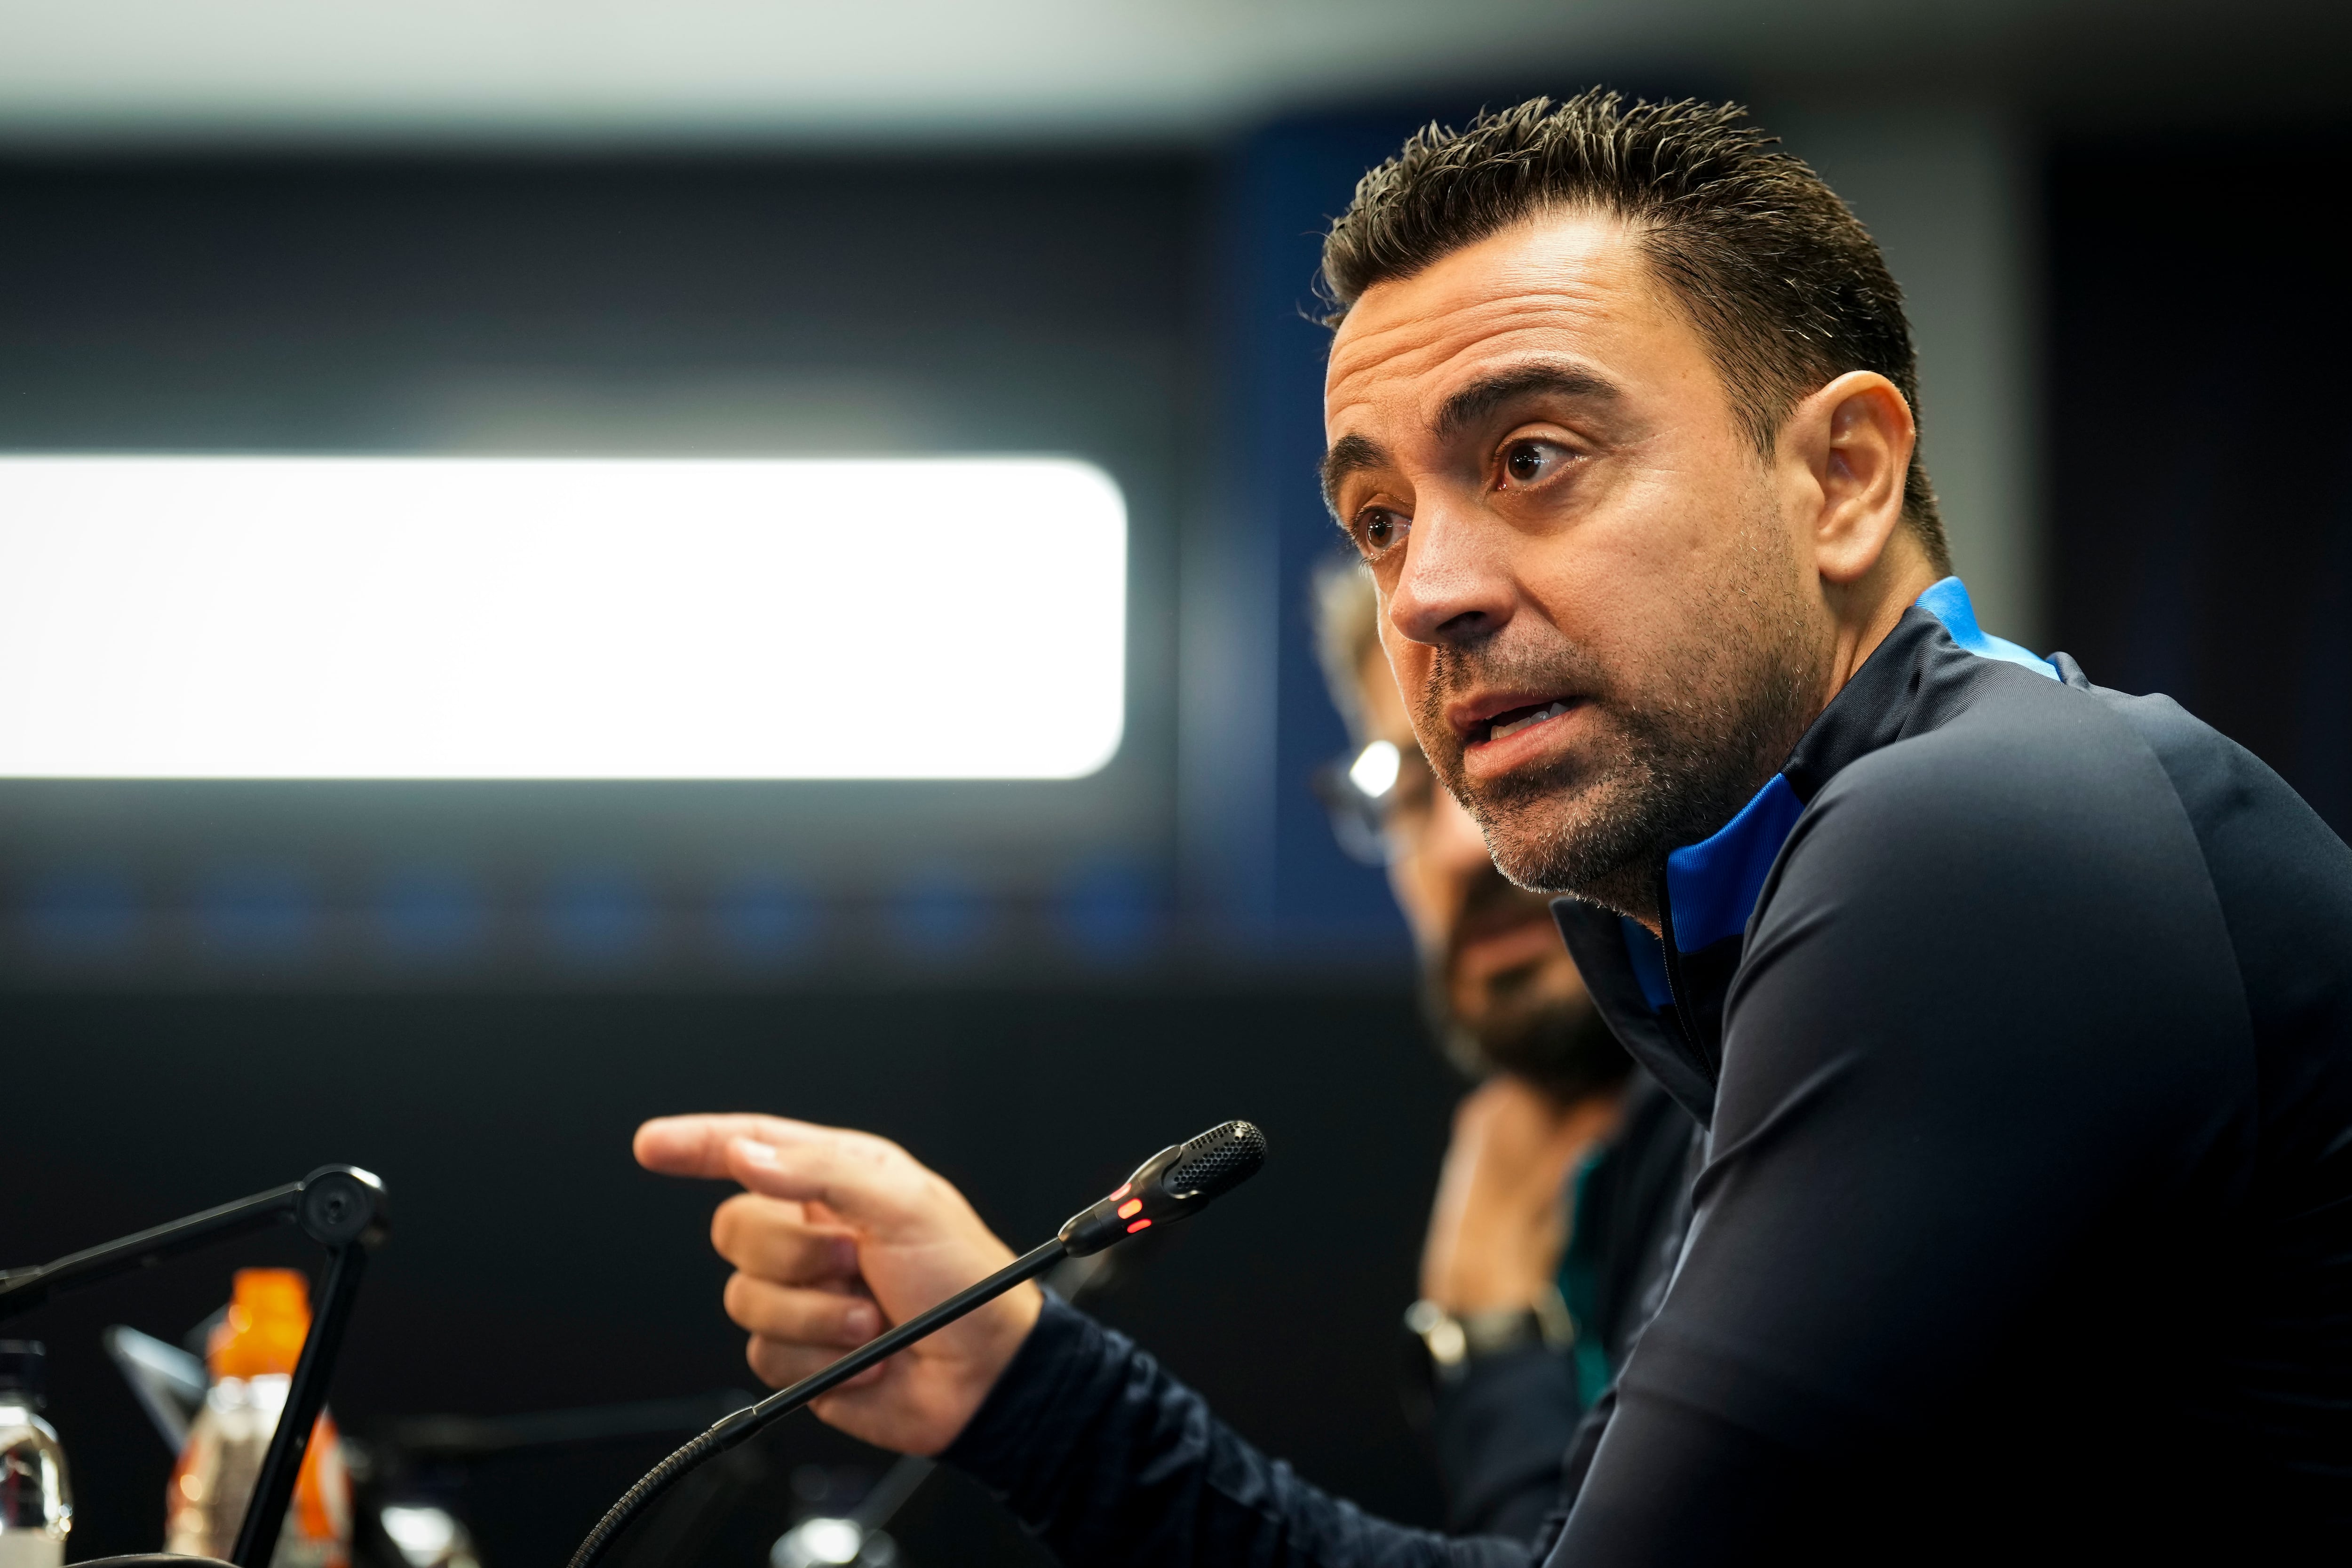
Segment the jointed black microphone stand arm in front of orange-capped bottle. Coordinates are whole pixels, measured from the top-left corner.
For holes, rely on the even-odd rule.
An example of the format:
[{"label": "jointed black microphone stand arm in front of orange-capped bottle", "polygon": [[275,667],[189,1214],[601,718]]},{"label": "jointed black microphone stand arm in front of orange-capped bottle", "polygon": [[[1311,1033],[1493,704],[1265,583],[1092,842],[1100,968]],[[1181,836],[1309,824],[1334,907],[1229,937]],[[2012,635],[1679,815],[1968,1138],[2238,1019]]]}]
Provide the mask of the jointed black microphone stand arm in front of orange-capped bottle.
[{"label": "jointed black microphone stand arm in front of orange-capped bottle", "polygon": [[310,1314],[310,1333],[301,1342],[301,1359],[294,1363],[278,1432],[270,1434],[270,1448],[254,1481],[254,1497],[245,1505],[245,1521],[238,1526],[238,1544],[230,1549],[235,1568],[266,1568],[278,1549],[287,1505],[294,1502],[294,1481],[310,1450],[310,1429],[327,1403],[334,1356],[343,1347],[343,1328],[360,1298],[367,1253],[383,1241],[388,1225],[383,1182],[358,1166],[320,1166],[299,1182],[270,1187],[235,1204],[68,1253],[54,1262],[0,1272],[0,1319],[9,1319],[42,1305],[56,1291],[148,1269],[167,1258],[270,1225],[301,1225],[303,1234],[327,1248],[327,1286],[320,1291],[318,1312]]}]

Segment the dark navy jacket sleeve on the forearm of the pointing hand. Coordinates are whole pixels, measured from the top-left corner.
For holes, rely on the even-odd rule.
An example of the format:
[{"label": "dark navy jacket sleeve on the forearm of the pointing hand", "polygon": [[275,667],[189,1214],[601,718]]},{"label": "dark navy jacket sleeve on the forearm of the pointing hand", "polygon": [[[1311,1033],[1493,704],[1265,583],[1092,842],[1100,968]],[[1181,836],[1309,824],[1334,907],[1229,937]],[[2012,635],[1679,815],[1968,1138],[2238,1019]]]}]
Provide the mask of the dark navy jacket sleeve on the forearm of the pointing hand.
[{"label": "dark navy jacket sleeve on the forearm of the pointing hand", "polygon": [[[1047,1295],[941,1455],[1070,1568],[1531,1568],[1534,1547],[1385,1523],[1268,1460],[1131,1340]],[[1555,1472],[1557,1474],[1557,1472]]]}]

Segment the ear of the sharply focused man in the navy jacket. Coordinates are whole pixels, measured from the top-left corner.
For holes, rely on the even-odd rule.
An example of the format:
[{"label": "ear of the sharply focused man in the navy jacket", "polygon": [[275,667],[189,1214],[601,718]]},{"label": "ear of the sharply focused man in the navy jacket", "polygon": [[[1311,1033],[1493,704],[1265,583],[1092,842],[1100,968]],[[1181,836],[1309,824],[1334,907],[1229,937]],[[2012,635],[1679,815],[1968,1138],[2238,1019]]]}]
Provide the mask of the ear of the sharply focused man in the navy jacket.
[{"label": "ear of the sharply focused man in the navy jacket", "polygon": [[1919,428],[1896,383],[1877,371],[1846,371],[1799,402],[1783,430],[1783,451],[1811,477],[1813,515],[1806,548],[1820,578],[1851,585],[1879,564],[1903,527],[1903,480]]}]

